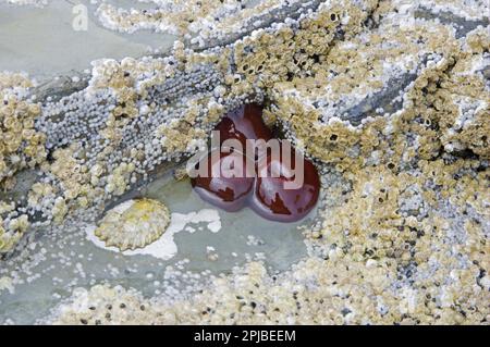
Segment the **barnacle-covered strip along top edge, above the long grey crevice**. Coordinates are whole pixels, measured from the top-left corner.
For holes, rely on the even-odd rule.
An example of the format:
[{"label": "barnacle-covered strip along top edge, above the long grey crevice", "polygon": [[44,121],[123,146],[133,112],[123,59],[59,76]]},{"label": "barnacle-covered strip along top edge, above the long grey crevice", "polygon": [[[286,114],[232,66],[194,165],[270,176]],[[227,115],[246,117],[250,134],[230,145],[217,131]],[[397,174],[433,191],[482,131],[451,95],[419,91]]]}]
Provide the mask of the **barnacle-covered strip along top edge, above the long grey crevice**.
[{"label": "barnacle-covered strip along top edge, above the long grey crevice", "polygon": [[[250,28],[265,26],[283,16],[284,9],[303,7],[302,1],[284,3],[281,0],[151,0],[150,9],[125,9],[101,3],[96,13],[107,28],[135,33],[150,29],[183,37],[198,47],[210,41],[229,40],[249,33]],[[318,3],[318,1],[311,1]],[[306,4],[308,5],[308,4]],[[291,13],[289,11],[287,13]],[[294,13],[293,13],[294,14]]]}]

